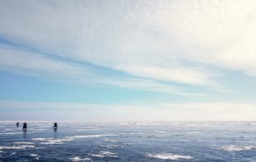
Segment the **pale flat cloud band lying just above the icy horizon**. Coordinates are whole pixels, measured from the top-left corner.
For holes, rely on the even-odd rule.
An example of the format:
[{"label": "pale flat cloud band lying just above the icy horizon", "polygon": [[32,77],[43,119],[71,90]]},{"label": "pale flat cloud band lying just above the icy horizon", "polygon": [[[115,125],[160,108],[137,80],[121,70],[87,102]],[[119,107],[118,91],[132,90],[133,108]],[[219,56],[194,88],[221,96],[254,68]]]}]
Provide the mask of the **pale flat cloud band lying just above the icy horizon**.
[{"label": "pale flat cloud band lying just above the icy horizon", "polygon": [[[163,103],[151,106],[97,105],[63,102],[0,101],[1,119],[65,119],[86,121],[248,121],[255,105],[228,102]],[[12,115],[10,115],[12,114]]]}]

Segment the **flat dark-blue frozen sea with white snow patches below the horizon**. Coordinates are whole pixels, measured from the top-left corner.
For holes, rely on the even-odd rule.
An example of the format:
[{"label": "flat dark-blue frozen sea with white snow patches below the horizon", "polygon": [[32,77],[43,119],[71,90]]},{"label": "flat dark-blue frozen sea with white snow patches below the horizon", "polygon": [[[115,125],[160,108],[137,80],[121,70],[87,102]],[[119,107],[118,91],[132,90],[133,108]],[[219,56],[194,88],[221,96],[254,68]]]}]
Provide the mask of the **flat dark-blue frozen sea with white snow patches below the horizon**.
[{"label": "flat dark-blue frozen sea with white snow patches below the horizon", "polygon": [[256,161],[256,122],[0,122],[0,161]]}]

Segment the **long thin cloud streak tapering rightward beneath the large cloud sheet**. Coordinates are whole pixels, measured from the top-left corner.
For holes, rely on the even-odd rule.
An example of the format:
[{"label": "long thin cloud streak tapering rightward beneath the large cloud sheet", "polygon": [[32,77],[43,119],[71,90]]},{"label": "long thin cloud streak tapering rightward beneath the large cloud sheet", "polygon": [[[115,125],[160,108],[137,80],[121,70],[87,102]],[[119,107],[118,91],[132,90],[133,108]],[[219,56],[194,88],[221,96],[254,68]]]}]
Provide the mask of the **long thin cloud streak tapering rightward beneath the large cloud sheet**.
[{"label": "long thin cloud streak tapering rightward beneath the large cloud sheet", "polygon": [[[0,67],[2,70],[30,77],[55,79],[58,82],[101,83],[140,91],[167,92],[182,96],[201,96],[199,93],[186,92],[185,88],[171,86],[150,79],[132,79],[101,74],[92,67],[59,61],[38,52],[0,48]],[[97,72],[98,71],[98,72]]]}]

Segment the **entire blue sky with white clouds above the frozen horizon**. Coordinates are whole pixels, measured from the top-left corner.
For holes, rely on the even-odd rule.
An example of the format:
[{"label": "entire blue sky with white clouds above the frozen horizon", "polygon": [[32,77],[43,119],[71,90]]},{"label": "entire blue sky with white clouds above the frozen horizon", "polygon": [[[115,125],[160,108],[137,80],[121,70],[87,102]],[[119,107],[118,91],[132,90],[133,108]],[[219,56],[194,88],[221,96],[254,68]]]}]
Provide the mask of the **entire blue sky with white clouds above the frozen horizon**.
[{"label": "entire blue sky with white clouds above the frozen horizon", "polygon": [[0,120],[256,120],[256,2],[0,0]]}]

